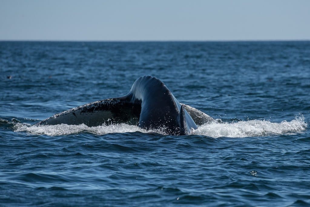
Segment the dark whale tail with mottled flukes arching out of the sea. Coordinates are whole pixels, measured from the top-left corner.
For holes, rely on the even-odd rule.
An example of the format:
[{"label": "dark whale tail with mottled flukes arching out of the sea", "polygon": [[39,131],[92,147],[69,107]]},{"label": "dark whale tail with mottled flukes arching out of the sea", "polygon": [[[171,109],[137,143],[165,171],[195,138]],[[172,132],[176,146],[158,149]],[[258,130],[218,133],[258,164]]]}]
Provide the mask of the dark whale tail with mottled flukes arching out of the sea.
[{"label": "dark whale tail with mottled flukes arching out of the sea", "polygon": [[170,135],[188,135],[197,125],[214,121],[204,112],[179,103],[166,85],[152,76],[140,77],[128,94],[95,101],[55,114],[36,125],[126,123],[145,129],[162,129]]}]

